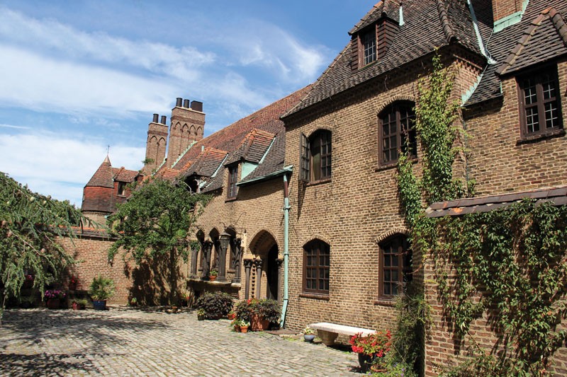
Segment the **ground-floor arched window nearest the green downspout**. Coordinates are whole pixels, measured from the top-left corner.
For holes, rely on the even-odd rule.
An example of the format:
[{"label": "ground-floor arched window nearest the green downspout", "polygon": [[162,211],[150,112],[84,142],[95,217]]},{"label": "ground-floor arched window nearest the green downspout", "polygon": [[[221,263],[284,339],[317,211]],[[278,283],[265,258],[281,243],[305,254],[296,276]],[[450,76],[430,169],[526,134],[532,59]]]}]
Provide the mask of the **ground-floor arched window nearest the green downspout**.
[{"label": "ground-floor arched window nearest the green downspout", "polygon": [[303,246],[303,292],[329,294],[330,246],[312,240]]}]

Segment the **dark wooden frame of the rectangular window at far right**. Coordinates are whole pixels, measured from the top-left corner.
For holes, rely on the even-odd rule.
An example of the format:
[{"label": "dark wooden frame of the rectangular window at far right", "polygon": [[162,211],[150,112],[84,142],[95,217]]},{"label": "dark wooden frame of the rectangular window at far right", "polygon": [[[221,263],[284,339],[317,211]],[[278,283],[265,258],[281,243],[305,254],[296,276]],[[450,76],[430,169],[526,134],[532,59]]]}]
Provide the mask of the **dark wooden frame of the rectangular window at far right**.
[{"label": "dark wooden frame of the rectangular window at far right", "polygon": [[[544,98],[544,79],[546,75],[551,76],[550,80],[545,81],[546,83],[551,83],[554,85],[554,93],[555,95],[550,98]],[[536,89],[536,101],[534,103],[527,104],[525,98],[526,89],[525,83],[527,80],[532,79],[535,81],[535,89]],[[559,88],[559,81],[558,81],[558,74],[557,74],[557,66],[548,65],[548,66],[541,66],[538,67],[537,70],[528,71],[527,73],[521,74],[516,78],[517,83],[517,94],[518,94],[518,104],[520,107],[520,136],[522,139],[533,138],[533,137],[541,137],[547,134],[554,134],[554,132],[558,131],[559,129],[563,128],[563,117],[561,114],[561,92]],[[558,123],[557,126],[547,127],[546,126],[546,105],[547,104],[555,104],[555,110],[557,112],[556,122]],[[539,126],[539,130],[537,131],[529,131],[528,127],[529,124],[527,123],[527,109],[537,109],[537,124]],[[543,127],[542,127],[543,125]]]}]

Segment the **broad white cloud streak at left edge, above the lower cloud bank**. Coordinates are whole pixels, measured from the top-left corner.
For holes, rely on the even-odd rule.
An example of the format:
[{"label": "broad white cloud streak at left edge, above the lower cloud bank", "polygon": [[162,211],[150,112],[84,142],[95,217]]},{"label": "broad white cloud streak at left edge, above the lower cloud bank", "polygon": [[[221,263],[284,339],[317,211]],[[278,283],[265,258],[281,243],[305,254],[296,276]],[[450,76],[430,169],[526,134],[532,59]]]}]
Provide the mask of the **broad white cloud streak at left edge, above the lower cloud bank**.
[{"label": "broad white cloud streak at left edge, above the lower cloud bank", "polygon": [[129,112],[166,110],[176,92],[171,84],[48,59],[1,44],[0,56],[4,57],[0,59],[0,102],[4,105],[125,117]]}]

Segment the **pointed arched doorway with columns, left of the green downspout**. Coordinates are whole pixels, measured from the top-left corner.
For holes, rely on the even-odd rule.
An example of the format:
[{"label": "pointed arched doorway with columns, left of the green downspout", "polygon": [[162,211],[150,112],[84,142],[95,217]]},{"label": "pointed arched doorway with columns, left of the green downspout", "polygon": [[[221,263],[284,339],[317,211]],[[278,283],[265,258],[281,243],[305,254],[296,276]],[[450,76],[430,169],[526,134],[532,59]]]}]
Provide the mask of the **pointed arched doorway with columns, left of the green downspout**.
[{"label": "pointed arched doorway with columns, left of the green downspout", "polygon": [[281,282],[281,259],[276,239],[268,231],[260,231],[250,242],[250,252],[254,255],[254,260],[247,283],[252,286],[252,296],[277,300]]}]

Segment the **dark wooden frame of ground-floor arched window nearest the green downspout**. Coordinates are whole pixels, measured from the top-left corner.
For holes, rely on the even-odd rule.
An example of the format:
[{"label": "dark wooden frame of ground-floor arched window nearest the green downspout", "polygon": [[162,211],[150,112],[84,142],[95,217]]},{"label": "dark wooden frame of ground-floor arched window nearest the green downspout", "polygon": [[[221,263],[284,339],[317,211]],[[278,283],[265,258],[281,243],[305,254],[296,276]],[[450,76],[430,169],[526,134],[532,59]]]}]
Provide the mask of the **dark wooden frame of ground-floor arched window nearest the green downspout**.
[{"label": "dark wooden frame of ground-floor arched window nearest the green downspout", "polygon": [[[308,265],[308,253],[315,252],[313,257],[316,260],[316,264]],[[303,294],[313,294],[320,296],[329,296],[330,291],[330,265],[331,265],[331,247],[328,243],[322,240],[312,240],[303,246],[303,277],[302,277],[302,293]],[[312,257],[312,258],[313,258]],[[321,257],[327,257],[328,265],[322,265],[320,263]],[[313,259],[312,259],[313,260]],[[312,269],[316,273],[315,277],[310,277],[310,280],[315,282],[315,288],[308,288],[308,269]],[[327,274],[325,274],[327,272]],[[326,284],[325,284],[326,282]],[[320,288],[322,283],[323,288]],[[325,289],[325,285],[327,289]]]}]

